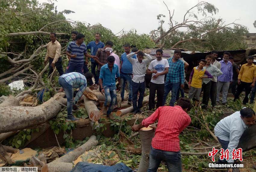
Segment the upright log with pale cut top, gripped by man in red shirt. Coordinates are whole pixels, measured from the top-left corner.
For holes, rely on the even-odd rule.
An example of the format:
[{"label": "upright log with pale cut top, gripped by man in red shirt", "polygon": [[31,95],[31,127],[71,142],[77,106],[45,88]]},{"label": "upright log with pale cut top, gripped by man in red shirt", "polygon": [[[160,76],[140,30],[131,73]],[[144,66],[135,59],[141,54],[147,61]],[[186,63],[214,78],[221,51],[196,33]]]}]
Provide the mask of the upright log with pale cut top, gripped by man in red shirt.
[{"label": "upright log with pale cut top, gripped by man in red shirt", "polygon": [[141,160],[139,161],[138,172],[146,172],[148,170],[151,141],[154,135],[155,135],[155,130],[153,128],[144,127],[139,130],[139,137],[141,140],[142,152],[141,152]]}]

